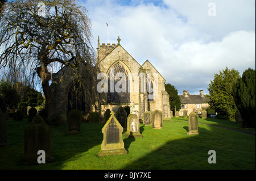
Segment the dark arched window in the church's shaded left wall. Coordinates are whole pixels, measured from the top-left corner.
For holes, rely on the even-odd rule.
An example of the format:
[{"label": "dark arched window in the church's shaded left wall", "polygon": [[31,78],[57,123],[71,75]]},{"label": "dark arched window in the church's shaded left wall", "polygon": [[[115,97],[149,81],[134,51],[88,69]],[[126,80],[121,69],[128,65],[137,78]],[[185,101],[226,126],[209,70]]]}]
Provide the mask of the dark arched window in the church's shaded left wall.
[{"label": "dark arched window in the church's shaded left wall", "polygon": [[72,83],[68,90],[68,111],[72,109],[85,111],[85,91],[79,82]]}]

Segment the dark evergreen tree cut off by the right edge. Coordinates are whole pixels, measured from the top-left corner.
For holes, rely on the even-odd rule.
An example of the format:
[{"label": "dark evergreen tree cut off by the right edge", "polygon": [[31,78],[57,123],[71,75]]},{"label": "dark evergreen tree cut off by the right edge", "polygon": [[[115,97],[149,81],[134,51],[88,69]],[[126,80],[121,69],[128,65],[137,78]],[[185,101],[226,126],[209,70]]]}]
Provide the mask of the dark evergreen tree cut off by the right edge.
[{"label": "dark evergreen tree cut off by the right edge", "polygon": [[255,70],[243,71],[233,85],[233,96],[243,119],[243,127],[255,128]]}]

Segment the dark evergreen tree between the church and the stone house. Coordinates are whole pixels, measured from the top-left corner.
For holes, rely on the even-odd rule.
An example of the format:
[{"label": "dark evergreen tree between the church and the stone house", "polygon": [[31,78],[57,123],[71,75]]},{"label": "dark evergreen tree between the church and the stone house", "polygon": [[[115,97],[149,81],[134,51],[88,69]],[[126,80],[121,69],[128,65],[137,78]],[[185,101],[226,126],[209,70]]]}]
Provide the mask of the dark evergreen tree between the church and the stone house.
[{"label": "dark evergreen tree between the church and the stone house", "polygon": [[170,95],[171,111],[174,112],[175,106],[176,106],[176,111],[179,111],[181,108],[181,102],[180,102],[180,97],[177,94],[177,89],[175,89],[175,87],[172,86],[171,83],[167,83],[165,88],[168,94]]}]

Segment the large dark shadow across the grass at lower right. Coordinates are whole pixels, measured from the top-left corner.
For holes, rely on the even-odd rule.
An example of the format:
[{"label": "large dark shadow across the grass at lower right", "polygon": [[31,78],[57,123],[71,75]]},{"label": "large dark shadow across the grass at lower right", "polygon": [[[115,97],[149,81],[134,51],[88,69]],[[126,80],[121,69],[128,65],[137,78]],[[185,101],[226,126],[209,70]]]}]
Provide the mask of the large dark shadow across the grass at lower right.
[{"label": "large dark shadow across the grass at lower right", "polygon": [[[183,127],[188,131],[188,127]],[[229,133],[218,134],[218,128],[210,131],[199,127],[200,134],[185,135],[184,138],[166,142],[144,157],[127,164],[124,170],[205,170],[205,169],[255,169],[255,152],[244,148]],[[184,132],[186,134],[186,132]],[[230,141],[231,140],[231,141]],[[236,146],[234,146],[236,145]],[[255,146],[255,145],[254,145]],[[208,163],[209,150],[217,153],[217,163]],[[241,151],[245,155],[241,155]],[[233,159],[236,158],[236,159]],[[242,163],[241,163],[242,161]]]}]

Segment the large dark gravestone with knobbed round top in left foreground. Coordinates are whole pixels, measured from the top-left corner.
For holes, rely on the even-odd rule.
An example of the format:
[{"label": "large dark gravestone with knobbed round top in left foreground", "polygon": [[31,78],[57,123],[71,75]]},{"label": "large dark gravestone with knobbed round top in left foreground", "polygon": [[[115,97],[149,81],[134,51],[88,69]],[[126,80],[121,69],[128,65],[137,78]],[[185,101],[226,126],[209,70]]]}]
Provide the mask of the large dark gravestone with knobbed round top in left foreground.
[{"label": "large dark gravestone with knobbed round top in left foreground", "polygon": [[30,126],[24,130],[24,164],[38,163],[38,151],[44,150],[46,162],[54,161],[51,149],[51,127],[49,127],[41,116],[32,119]]}]

